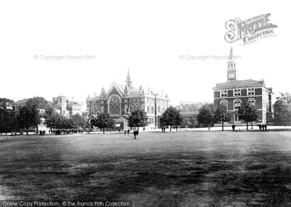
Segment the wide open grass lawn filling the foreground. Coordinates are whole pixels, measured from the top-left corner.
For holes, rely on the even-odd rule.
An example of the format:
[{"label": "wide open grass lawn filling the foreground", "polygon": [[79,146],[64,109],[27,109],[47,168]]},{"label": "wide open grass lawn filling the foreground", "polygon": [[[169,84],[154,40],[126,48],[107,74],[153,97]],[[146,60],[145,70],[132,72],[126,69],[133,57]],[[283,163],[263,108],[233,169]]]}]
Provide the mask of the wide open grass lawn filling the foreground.
[{"label": "wide open grass lawn filling the foreground", "polygon": [[0,200],[291,206],[291,132],[0,137]]}]

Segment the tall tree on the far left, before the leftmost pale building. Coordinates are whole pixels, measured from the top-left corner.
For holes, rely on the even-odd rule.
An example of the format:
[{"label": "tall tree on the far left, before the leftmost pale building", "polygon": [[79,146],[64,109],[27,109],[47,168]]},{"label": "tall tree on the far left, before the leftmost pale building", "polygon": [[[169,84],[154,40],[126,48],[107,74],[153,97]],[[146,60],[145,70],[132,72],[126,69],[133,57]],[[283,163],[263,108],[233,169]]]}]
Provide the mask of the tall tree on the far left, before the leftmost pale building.
[{"label": "tall tree on the far left, before the leftmost pale building", "polygon": [[26,108],[31,111],[32,125],[36,126],[36,134],[38,134],[38,124],[41,123],[41,119],[44,118],[46,110],[48,110],[48,101],[44,97],[33,97],[25,104]]}]

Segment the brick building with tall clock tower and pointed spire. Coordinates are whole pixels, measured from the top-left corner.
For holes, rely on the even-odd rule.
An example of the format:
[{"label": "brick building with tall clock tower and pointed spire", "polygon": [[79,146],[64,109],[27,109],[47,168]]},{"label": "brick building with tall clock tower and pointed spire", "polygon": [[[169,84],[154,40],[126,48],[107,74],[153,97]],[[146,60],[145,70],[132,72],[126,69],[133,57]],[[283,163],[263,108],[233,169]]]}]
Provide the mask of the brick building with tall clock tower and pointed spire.
[{"label": "brick building with tall clock tower and pointed spire", "polygon": [[227,81],[217,83],[213,89],[214,104],[225,104],[231,112],[228,123],[241,124],[242,120],[237,114],[244,101],[255,105],[261,115],[258,123],[266,123],[267,113],[273,113],[275,96],[272,88],[266,87],[264,80],[238,80],[237,61],[233,59],[233,49],[227,62]]}]

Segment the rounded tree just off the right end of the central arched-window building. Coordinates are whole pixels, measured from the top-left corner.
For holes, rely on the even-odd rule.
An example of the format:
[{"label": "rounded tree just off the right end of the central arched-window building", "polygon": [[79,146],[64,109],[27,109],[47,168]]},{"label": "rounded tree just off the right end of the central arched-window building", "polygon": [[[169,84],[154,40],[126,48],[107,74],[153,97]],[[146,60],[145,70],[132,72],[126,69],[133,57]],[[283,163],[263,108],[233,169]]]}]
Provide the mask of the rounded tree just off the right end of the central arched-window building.
[{"label": "rounded tree just off the right end of the central arched-window building", "polygon": [[170,126],[170,131],[172,131],[172,126],[176,127],[178,131],[178,126],[183,122],[180,111],[173,106],[170,106],[162,113],[162,120],[165,125]]}]

